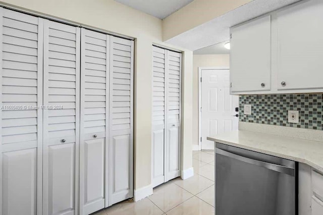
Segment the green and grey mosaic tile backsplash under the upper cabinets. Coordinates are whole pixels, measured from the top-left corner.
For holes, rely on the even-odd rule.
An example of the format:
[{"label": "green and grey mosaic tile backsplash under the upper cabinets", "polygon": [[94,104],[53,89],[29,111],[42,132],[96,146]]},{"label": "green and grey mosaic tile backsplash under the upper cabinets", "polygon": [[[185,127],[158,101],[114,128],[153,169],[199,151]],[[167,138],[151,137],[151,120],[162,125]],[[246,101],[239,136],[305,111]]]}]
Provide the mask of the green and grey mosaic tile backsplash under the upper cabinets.
[{"label": "green and grey mosaic tile backsplash under the upper cabinets", "polygon": [[[244,104],[252,114],[244,115]],[[243,95],[239,98],[239,120],[270,125],[323,130],[323,94]],[[288,122],[288,110],[299,111],[299,123]]]}]

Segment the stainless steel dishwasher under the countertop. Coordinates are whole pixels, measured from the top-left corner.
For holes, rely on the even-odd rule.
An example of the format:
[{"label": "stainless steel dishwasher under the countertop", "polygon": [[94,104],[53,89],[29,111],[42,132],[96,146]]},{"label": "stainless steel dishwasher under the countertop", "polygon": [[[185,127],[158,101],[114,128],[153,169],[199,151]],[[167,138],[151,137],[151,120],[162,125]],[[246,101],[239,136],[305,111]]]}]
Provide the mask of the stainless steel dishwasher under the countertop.
[{"label": "stainless steel dishwasher under the countertop", "polygon": [[216,215],[297,214],[298,163],[216,144]]}]

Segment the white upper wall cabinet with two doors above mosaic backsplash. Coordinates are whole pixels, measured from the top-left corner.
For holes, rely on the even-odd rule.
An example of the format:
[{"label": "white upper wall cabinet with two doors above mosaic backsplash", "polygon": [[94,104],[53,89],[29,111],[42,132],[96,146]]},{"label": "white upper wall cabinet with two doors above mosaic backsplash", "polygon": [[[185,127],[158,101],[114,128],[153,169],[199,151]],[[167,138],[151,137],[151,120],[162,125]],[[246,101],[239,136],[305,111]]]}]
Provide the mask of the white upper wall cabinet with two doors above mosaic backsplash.
[{"label": "white upper wall cabinet with two doors above mosaic backsplash", "polygon": [[301,1],[231,28],[231,94],[323,92],[323,2]]}]

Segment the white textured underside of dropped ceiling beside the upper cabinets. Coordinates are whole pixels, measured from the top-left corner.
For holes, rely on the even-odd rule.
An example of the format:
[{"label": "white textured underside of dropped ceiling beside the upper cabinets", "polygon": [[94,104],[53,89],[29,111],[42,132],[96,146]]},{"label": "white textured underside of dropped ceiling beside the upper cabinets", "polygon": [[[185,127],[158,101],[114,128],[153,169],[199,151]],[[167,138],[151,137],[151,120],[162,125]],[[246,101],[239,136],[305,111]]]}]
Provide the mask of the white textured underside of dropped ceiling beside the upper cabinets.
[{"label": "white textured underside of dropped ceiling beside the upper cabinets", "polygon": [[300,0],[253,0],[248,4],[177,35],[165,42],[189,50],[197,50],[223,41],[228,41],[231,26],[299,1]]}]

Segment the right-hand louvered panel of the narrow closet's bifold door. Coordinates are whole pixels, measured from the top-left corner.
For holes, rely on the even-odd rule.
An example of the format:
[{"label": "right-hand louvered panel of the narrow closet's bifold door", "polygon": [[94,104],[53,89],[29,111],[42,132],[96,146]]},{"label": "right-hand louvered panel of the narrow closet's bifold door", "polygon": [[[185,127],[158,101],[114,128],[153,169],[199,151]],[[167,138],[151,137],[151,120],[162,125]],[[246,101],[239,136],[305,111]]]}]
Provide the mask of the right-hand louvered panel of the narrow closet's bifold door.
[{"label": "right-hand louvered panel of the narrow closet's bifold door", "polygon": [[169,181],[181,175],[181,58],[181,53],[167,50],[167,138],[165,146],[165,181]]}]

